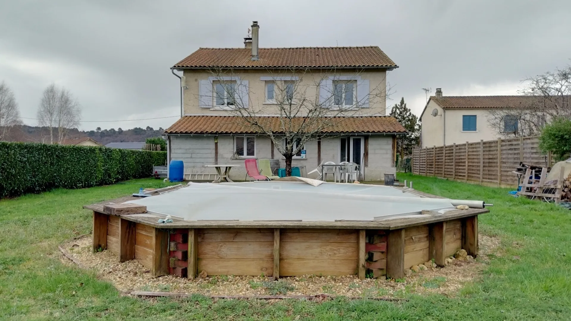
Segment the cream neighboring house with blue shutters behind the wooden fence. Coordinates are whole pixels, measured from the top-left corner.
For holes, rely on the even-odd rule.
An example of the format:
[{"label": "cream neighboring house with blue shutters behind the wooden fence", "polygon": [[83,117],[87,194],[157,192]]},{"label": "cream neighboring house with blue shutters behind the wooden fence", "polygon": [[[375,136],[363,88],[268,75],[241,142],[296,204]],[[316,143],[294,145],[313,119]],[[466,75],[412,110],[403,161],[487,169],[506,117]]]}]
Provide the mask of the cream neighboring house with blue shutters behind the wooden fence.
[{"label": "cream neighboring house with blue shutters behind the wooden fence", "polygon": [[421,147],[490,141],[517,133],[517,115],[507,113],[498,124],[490,125],[490,110],[510,109],[533,103],[531,96],[443,96],[440,88],[428,99],[421,122]]}]

